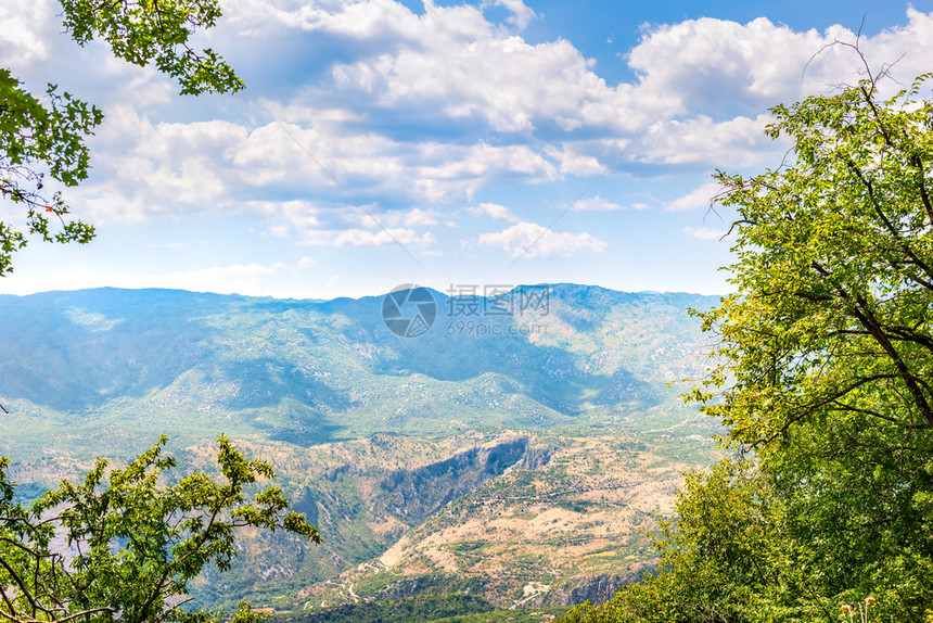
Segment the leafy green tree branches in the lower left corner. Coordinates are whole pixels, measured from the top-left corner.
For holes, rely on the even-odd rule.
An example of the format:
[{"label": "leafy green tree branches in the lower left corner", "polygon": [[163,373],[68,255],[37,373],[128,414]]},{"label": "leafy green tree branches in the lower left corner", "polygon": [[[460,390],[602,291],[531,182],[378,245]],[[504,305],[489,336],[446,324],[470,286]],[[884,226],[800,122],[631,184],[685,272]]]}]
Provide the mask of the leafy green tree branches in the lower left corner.
[{"label": "leafy green tree branches in the lower left corner", "polygon": [[[284,530],[320,543],[315,526],[287,511],[274,486],[248,497],[271,466],[246,460],[225,437],[217,462],[226,482],[192,473],[166,484],[175,459],[165,436],[123,469],[99,459],[84,482],[62,482],[30,506],[14,504],[0,458],[0,620],[9,623],[118,620],[124,623],[216,620],[186,611],[188,582],[207,564],[226,570],[235,530]],[[67,543],[62,548],[60,541]],[[234,621],[261,616],[241,605]]]}]

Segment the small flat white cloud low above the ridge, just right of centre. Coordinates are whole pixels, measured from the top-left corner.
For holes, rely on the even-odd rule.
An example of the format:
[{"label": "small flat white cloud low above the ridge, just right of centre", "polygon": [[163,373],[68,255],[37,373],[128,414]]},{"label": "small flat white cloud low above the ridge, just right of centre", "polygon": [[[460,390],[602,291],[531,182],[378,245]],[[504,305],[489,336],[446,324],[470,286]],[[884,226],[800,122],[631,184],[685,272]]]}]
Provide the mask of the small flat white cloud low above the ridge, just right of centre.
[{"label": "small flat white cloud low above the ridge, just right of centre", "polygon": [[522,221],[502,231],[483,233],[478,244],[502,249],[512,257],[568,257],[577,251],[604,252],[609,245],[589,233],[557,233]]}]

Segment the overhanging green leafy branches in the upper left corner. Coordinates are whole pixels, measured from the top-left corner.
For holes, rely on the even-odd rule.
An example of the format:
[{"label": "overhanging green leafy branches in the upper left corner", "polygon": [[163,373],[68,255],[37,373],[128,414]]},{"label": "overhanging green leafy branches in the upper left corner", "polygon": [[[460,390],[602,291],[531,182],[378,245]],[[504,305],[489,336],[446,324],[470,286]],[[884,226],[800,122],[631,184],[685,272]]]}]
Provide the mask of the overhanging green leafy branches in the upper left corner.
[{"label": "overhanging green leafy branches in the upper left corner", "polygon": [[[220,17],[218,0],[60,1],[65,29],[80,46],[102,38],[119,59],[140,66],[154,63],[178,81],[182,94],[244,88],[216,52],[190,44],[195,31]],[[26,245],[28,234],[62,243],[87,243],[94,236],[93,226],[71,218],[61,192],[49,198],[43,189],[47,174],[65,187],[88,177],[85,138],[103,122],[103,113],[67,92],[60,94],[54,85],[42,97],[20,86],[9,69],[0,68],[0,196],[26,209],[25,228],[0,223],[0,277],[13,269],[13,253]]]}]

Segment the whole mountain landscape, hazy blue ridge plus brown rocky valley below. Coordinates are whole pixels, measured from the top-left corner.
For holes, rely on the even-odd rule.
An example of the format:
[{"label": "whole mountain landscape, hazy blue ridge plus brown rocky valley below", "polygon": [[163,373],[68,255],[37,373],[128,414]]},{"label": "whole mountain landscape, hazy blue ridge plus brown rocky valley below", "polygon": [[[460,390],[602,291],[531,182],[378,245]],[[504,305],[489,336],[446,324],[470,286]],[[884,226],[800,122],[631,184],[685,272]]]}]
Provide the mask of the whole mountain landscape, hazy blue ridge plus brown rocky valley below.
[{"label": "whole mountain landscape, hazy blue ridge plus brown rocky valley below", "polygon": [[0,454],[36,492],[162,433],[186,467],[210,469],[221,432],[269,458],[324,544],[250,537],[200,583],[204,603],[597,597],[650,563],[637,526],[715,454],[669,383],[702,373],[687,309],[717,300],[534,288],[547,298],[527,314],[432,292],[410,338],[384,296],[0,296]]}]

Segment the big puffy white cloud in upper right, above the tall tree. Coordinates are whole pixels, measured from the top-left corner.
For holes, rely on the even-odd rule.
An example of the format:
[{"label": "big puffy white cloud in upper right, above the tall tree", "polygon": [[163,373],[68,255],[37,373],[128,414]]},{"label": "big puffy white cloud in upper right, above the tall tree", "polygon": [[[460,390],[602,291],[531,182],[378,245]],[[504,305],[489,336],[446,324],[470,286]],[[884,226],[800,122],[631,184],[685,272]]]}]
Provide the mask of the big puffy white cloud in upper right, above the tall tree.
[{"label": "big puffy white cloud in upper right, above the tall tree", "polygon": [[[907,26],[862,37],[860,49],[872,64],[906,53],[897,73],[912,77],[933,53],[933,17],[912,8],[907,15]],[[856,35],[838,25],[801,33],[766,17],[747,24],[703,17],[649,27],[628,64],[642,76],[642,97],[674,98],[678,112],[761,110],[854,82],[862,61],[851,48],[825,49],[836,40],[855,42]]]}]

